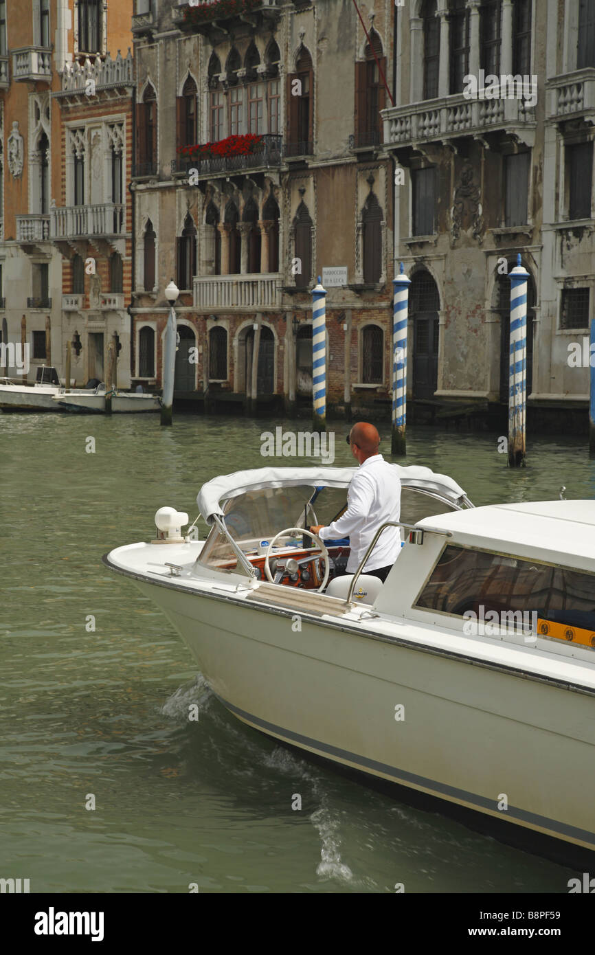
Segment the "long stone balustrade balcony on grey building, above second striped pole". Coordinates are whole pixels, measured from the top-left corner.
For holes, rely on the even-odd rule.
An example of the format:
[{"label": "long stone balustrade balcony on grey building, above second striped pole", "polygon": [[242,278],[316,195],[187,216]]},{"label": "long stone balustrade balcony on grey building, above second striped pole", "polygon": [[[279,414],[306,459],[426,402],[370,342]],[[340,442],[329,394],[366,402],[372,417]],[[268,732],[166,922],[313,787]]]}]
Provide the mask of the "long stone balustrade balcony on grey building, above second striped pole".
[{"label": "long stone balustrade balcony on grey building, above second striped pole", "polygon": [[414,147],[417,142],[482,137],[492,132],[517,136],[532,146],[535,109],[524,99],[467,99],[462,93],[424,99],[383,110],[384,145]]}]

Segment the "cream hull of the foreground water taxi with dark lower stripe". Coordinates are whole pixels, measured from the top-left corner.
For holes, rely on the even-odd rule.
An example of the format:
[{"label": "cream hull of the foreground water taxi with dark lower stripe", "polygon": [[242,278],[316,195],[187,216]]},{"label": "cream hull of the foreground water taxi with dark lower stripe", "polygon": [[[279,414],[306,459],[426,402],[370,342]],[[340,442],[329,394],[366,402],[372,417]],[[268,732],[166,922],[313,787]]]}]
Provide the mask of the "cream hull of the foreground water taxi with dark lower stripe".
[{"label": "cream hull of the foreground water taxi with dark lower stripe", "polygon": [[245,723],[352,770],[595,849],[595,697],[262,605],[136,581]]}]

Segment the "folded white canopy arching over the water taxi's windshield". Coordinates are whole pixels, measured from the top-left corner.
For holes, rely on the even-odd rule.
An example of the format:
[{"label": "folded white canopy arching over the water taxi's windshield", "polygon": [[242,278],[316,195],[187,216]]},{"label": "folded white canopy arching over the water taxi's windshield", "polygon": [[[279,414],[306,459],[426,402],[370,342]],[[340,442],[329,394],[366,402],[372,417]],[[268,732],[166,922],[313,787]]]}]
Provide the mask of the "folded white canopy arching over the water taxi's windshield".
[{"label": "folded white canopy arching over the water taxi's windshield", "polygon": [[[430,468],[413,464],[402,467],[393,464],[402,487],[415,488],[459,507],[468,502],[465,492],[457,481],[446,475],[435,474]],[[223,518],[223,503],[238,498],[250,491],[262,491],[275,487],[349,487],[357,468],[332,468],[320,465],[309,468],[256,468],[251,471],[235,471],[231,475],[213,477],[202,485],[197,503],[202,517],[212,524],[215,516]]]}]

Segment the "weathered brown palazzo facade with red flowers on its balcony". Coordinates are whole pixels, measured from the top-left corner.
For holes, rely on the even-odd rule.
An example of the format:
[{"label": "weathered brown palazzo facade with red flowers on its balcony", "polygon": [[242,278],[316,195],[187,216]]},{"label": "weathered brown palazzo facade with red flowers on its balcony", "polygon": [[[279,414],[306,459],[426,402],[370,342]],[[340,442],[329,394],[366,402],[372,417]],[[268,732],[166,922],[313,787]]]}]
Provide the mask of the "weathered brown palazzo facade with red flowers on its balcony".
[{"label": "weathered brown palazzo facade with red flowers on its balcony", "polygon": [[[343,266],[347,284],[329,287],[327,296],[329,411],[350,402],[375,408],[377,401],[386,409],[393,163],[380,146],[385,92],[378,67],[390,77],[393,5],[364,11],[371,44],[345,0],[264,3],[217,21],[222,29],[209,20],[189,23],[191,11],[159,3],[135,39],[137,102],[155,96],[157,135],[154,169],[141,147],[132,183],[133,382],[160,381],[163,288],[172,277],[182,287],[176,250],[186,226],[195,232],[196,259],[192,287],[182,288],[177,306],[186,329],[179,398],[204,399],[206,407],[309,409],[310,290],[324,267]],[[181,154],[177,102],[188,89],[196,97],[196,143],[252,133],[264,138],[261,151],[227,160]],[[144,122],[138,117],[143,142]],[[152,289],[143,279],[148,223],[157,263]],[[303,278],[300,265],[308,270]],[[369,326],[377,331],[364,343]],[[143,328],[152,329],[143,334],[150,348],[155,343],[155,361],[147,364],[145,355],[142,371],[153,376],[140,373]],[[182,364],[190,349],[191,371]]]}]

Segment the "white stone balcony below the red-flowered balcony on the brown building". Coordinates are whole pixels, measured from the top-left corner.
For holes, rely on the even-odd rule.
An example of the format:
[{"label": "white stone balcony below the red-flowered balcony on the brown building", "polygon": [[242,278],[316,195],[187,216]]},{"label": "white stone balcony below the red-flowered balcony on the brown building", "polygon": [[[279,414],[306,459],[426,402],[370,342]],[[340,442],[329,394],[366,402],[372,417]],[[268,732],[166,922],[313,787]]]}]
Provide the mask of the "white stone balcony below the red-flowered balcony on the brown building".
[{"label": "white stone balcony below the red-flowered balcony on the brown building", "polygon": [[251,275],[206,275],[194,279],[195,308],[279,308],[280,272]]}]

